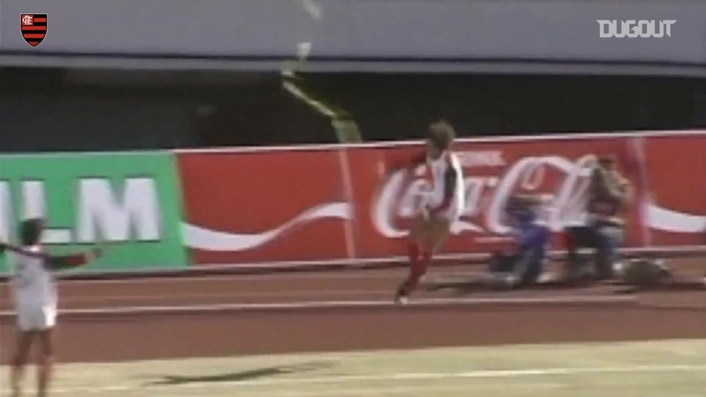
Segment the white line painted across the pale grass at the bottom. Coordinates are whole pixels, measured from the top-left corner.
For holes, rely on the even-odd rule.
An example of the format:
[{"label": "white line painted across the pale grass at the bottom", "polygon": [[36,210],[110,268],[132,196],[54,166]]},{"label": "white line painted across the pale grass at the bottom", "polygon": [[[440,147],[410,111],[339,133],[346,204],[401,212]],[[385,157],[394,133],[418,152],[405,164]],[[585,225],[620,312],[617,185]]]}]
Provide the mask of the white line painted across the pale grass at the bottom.
[{"label": "white line painted across the pale grass at the bottom", "polygon": [[[107,391],[134,390],[173,390],[173,389],[212,389],[234,386],[288,386],[306,384],[346,384],[352,382],[374,381],[431,381],[447,379],[513,379],[522,377],[573,377],[586,374],[638,374],[659,372],[701,372],[706,365],[635,365],[621,367],[569,367],[569,368],[532,368],[472,370],[467,372],[400,372],[381,375],[342,375],[330,377],[259,379],[249,381],[191,382],[184,384],[153,384],[146,386],[76,386],[54,389],[53,393],[102,393]],[[442,386],[443,387],[443,386]],[[295,396],[297,393],[293,393]]]}]

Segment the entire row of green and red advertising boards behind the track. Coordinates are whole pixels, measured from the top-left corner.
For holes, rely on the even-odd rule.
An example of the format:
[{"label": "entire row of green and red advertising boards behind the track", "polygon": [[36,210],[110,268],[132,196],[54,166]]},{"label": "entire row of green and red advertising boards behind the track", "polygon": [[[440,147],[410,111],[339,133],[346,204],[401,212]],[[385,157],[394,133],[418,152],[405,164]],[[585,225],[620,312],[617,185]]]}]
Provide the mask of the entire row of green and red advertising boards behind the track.
[{"label": "entire row of green and red advertising boards behind the track", "polygon": [[[45,216],[57,253],[97,242],[86,271],[385,262],[405,254],[424,167],[395,164],[421,142],[125,153],[0,155],[0,239]],[[508,243],[501,212],[517,191],[546,195],[554,231],[580,224],[590,167],[613,154],[630,180],[626,247],[706,246],[706,131],[459,140],[465,212],[444,255]],[[0,259],[0,273],[11,271]]]}]

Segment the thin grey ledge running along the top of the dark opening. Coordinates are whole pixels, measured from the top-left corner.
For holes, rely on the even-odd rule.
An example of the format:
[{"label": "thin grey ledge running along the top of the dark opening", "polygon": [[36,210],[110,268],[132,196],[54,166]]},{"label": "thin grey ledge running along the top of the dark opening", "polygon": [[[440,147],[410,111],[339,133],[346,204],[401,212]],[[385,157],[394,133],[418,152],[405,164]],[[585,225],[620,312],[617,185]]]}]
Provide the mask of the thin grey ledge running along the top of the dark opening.
[{"label": "thin grey ledge running along the top of the dark opening", "polygon": [[493,73],[554,75],[652,75],[705,78],[706,64],[534,59],[311,59],[284,57],[149,57],[90,54],[2,54],[0,66],[309,73]]}]

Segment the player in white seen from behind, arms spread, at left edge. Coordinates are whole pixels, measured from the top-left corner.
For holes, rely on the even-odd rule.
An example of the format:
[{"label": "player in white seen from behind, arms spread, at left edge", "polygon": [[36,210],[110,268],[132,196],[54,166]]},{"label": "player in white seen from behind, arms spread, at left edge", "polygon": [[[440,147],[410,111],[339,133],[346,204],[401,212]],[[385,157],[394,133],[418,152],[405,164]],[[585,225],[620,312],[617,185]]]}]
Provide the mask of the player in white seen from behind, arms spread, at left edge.
[{"label": "player in white seen from behind, arms spread, at left edge", "polygon": [[52,270],[88,264],[102,255],[100,248],[63,257],[47,255],[40,244],[43,230],[42,219],[28,219],[20,225],[21,247],[0,243],[0,250],[14,252],[16,263],[13,284],[19,332],[11,370],[13,396],[20,396],[22,375],[35,338],[39,339],[41,347],[37,396],[47,395],[54,361],[52,329],[56,324],[57,300],[56,281]]}]

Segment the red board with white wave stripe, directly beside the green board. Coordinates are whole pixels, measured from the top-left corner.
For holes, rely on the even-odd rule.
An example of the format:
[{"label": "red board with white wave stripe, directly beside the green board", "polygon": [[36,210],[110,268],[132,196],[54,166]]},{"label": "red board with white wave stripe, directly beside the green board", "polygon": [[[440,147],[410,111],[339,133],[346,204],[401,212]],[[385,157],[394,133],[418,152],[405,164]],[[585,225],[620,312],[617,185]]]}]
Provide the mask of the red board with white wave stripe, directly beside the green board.
[{"label": "red board with white wave stripe, directly beside the green board", "polygon": [[347,255],[339,154],[332,151],[179,153],[184,240],[197,264]]}]

